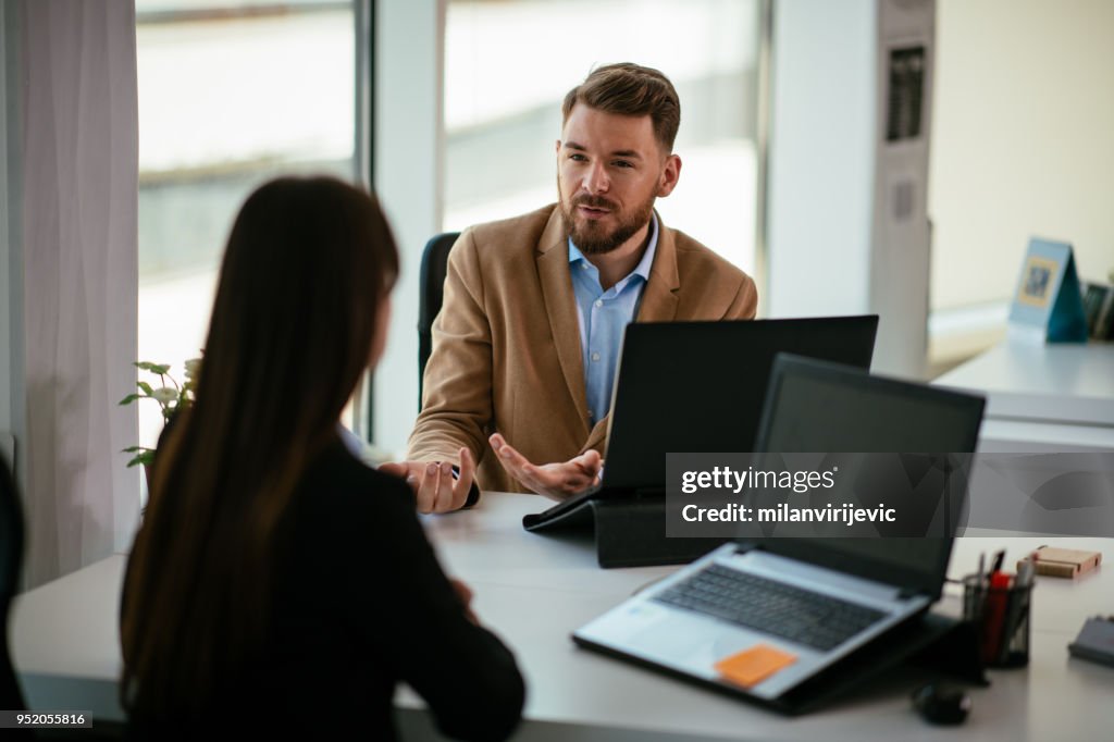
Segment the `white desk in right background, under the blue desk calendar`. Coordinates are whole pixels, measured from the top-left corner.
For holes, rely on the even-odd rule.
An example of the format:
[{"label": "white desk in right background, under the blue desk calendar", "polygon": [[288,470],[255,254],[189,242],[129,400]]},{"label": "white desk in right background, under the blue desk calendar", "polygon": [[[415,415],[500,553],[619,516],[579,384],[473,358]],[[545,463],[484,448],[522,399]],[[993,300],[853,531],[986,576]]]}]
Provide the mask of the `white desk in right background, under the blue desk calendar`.
[{"label": "white desk in right background, under the blue desk calendar", "polygon": [[1006,341],[934,383],[986,394],[990,450],[1114,450],[1114,344]]}]

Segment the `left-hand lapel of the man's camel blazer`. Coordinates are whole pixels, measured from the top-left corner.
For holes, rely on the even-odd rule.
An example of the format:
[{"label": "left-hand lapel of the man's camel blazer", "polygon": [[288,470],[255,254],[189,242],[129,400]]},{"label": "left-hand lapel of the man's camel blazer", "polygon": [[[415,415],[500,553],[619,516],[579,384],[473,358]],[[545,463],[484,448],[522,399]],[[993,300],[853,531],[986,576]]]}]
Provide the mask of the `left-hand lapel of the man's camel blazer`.
[{"label": "left-hand lapel of the man's camel blazer", "polygon": [[[559,204],[554,208],[538,241],[537,266],[549,329],[557,346],[557,359],[568,391],[576,402],[583,435],[587,435],[588,393],[584,387],[584,361],[580,358],[580,323],[576,316],[573,280],[568,274],[568,237],[561,224]],[[545,392],[539,390],[538,393]]]}]

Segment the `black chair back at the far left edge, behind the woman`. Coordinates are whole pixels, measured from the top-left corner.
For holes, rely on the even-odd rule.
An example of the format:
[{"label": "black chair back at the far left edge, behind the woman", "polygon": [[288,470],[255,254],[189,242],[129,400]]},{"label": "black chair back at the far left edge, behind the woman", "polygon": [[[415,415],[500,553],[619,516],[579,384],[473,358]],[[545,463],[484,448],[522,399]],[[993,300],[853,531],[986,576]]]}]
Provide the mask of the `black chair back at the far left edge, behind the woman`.
[{"label": "black chair back at the far left edge, behind the woman", "polygon": [[[8,462],[0,456],[0,709],[22,711],[23,693],[8,651],[8,609],[19,587],[23,565],[23,509]],[[6,739],[11,730],[4,732]],[[31,739],[27,733],[23,738]]]}]

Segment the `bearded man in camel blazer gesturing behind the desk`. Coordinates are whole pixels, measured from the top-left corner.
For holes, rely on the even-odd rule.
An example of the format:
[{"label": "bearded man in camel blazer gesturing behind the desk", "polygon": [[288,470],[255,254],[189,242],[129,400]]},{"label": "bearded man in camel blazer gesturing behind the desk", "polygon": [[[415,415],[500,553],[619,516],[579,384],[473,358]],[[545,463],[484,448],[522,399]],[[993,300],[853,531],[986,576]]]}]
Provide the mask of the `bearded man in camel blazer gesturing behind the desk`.
[{"label": "bearded man in camel blazer gesturing behind the desk", "polygon": [[681,176],[673,84],[600,67],[561,113],[559,203],[470,227],[449,255],[422,410],[407,460],[384,465],[423,512],[472,505],[479,488],[561,499],[592,486],[626,325],[754,316],[751,277],[654,211]]}]

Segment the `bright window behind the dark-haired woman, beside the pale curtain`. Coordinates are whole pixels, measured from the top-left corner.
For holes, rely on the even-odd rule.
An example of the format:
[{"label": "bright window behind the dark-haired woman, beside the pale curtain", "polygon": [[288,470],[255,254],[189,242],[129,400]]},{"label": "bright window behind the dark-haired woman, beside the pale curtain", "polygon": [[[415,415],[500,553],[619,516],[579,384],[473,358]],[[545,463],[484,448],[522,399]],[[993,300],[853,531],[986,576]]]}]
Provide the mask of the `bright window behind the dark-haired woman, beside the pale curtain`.
[{"label": "bright window behind the dark-haired woman, beside the pale curtain", "polygon": [[[352,2],[137,0],[141,360],[180,372],[198,354],[253,188],[356,176],[354,29]],[[146,446],[162,429],[154,407],[139,412]]]}]

